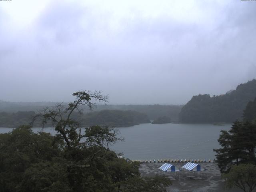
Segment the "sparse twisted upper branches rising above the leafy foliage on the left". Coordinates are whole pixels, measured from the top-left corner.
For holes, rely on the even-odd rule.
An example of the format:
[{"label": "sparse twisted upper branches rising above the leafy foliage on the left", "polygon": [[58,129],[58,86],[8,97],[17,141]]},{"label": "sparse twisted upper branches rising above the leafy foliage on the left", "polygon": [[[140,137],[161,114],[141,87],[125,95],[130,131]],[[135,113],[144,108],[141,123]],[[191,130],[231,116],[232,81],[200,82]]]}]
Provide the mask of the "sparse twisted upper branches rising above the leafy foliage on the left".
[{"label": "sparse twisted upper branches rising above the leafy foliage on the left", "polygon": [[72,114],[78,112],[81,116],[82,106],[88,106],[89,109],[92,109],[96,106],[96,102],[106,103],[108,100],[108,96],[103,96],[101,91],[78,91],[72,95],[76,97],[74,102],[69,102],[67,105],[58,103],[53,108],[44,108],[34,116],[32,121],[33,124],[36,119],[40,118],[43,126],[50,121],[58,136],[65,141],[68,147],[79,146],[80,140],[85,137],[85,135],[82,135],[79,119],[72,117]]}]

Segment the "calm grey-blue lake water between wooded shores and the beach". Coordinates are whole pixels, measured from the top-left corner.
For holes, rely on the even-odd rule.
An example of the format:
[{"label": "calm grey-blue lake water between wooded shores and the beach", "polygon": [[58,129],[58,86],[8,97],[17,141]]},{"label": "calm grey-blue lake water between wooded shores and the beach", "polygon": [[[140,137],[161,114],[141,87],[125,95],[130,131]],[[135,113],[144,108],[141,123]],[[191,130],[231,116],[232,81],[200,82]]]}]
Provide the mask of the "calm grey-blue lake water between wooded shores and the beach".
[{"label": "calm grey-blue lake water between wooded shores and the beach", "polygon": [[[214,126],[212,124],[140,124],[118,128],[124,142],[111,146],[123,157],[131,160],[153,159],[211,159],[215,158],[212,149],[220,148],[218,138],[220,130],[230,130],[231,124]],[[0,128],[0,133],[11,131]],[[39,132],[42,128],[32,128]],[[53,128],[44,128],[45,132],[56,134]]]}]

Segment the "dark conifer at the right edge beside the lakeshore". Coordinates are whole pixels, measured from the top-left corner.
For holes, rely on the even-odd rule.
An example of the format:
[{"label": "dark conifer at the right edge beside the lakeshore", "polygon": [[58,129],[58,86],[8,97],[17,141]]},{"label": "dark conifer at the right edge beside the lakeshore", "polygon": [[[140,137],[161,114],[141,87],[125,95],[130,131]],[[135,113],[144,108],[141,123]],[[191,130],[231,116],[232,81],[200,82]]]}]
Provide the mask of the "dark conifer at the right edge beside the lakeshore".
[{"label": "dark conifer at the right edge beside the lakeshore", "polygon": [[222,146],[214,149],[220,172],[229,172],[232,165],[256,163],[256,125],[236,121],[231,130],[222,130],[218,142]]}]

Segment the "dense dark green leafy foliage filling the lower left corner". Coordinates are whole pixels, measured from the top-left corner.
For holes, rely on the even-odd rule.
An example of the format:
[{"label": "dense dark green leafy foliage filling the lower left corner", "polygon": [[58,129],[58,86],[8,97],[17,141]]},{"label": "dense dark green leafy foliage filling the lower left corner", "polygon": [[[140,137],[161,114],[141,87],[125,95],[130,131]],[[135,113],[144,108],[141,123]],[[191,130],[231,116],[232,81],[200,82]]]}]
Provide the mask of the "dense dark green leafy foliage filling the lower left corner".
[{"label": "dense dark green leafy foliage filling the lower left corner", "polygon": [[[58,136],[35,134],[29,126],[0,134],[0,191],[164,192],[170,185],[160,176],[140,177],[138,162],[100,146],[71,150]],[[71,161],[67,154],[74,151]]]}]

